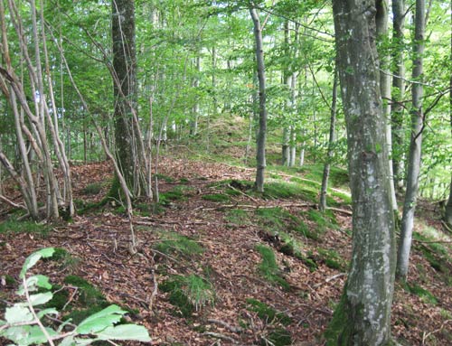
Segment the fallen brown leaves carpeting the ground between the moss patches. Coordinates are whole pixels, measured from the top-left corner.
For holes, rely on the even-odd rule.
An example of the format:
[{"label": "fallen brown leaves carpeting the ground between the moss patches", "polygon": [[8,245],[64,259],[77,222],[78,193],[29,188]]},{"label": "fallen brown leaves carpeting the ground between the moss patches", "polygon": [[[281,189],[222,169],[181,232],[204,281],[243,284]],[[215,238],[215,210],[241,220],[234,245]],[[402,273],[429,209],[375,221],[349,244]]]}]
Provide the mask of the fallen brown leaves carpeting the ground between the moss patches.
[{"label": "fallen brown leaves carpeting the ground between the moss patches", "polygon": [[[135,217],[139,239],[136,256],[131,257],[127,251],[127,220],[107,207],[76,217],[71,224],[54,229],[47,238],[28,234],[0,235],[2,274],[17,277],[24,258],[37,248],[66,248],[73,257],[80,258],[77,265],[60,269],[49,262],[42,264],[41,272],[51,276],[54,282],[61,281],[70,272],[83,276],[99,286],[109,302],[137,309],[138,313],[131,318],[146,326],[155,345],[176,342],[184,345],[259,344],[269,322],[260,321],[256,313],[246,309],[248,298],[259,299],[292,317],[288,330],[294,345],[323,344],[322,332],[331,319],[346,276],[324,265],[310,272],[297,258],[277,253],[278,263],[288,268],[285,278],[291,289],[283,291],[270,285],[257,274],[260,257],[255,246],[262,242],[258,224],[231,225],[224,219],[225,208],[219,208],[216,202],[202,200],[202,194],[211,192],[211,182],[252,180],[254,172],[226,164],[182,159],[165,159],[160,167],[159,172],[174,181],[188,179],[188,184],[197,193],[184,201],[174,201],[175,208],[167,208],[162,214]],[[110,179],[108,172],[111,171],[106,163],[73,167],[76,198],[99,201],[108,189],[108,183],[104,182]],[[102,183],[102,192],[84,195],[83,189],[93,182]],[[161,192],[174,187],[163,180],[160,183]],[[14,201],[17,201],[16,196]],[[280,206],[293,212],[313,207],[305,201],[255,201],[243,193],[233,196],[231,205],[247,205],[252,209],[257,206],[256,202],[259,207]],[[336,219],[341,229],[351,228],[347,213],[338,210]],[[185,258],[184,261],[158,254],[152,247],[159,240],[161,230],[199,239],[205,252],[199,258]],[[319,245],[313,240],[305,239],[304,242],[306,248],[313,250]],[[325,233],[321,244],[322,248],[334,249],[344,258],[349,257],[350,245],[351,239],[334,229]],[[160,270],[162,267],[165,271]],[[207,267],[215,287],[215,305],[204,307],[190,321],[175,316],[171,313],[174,307],[157,289],[158,284],[168,275],[202,274]],[[439,281],[437,273],[419,254],[413,256],[411,267],[411,280],[428,286],[438,298],[438,305],[426,304],[398,286],[394,298],[393,333],[412,345],[430,344],[433,337],[436,345],[446,345],[452,335],[452,323],[447,322],[445,313],[452,312],[450,288]],[[12,301],[14,287],[4,285],[0,287],[0,294],[2,300]]]}]

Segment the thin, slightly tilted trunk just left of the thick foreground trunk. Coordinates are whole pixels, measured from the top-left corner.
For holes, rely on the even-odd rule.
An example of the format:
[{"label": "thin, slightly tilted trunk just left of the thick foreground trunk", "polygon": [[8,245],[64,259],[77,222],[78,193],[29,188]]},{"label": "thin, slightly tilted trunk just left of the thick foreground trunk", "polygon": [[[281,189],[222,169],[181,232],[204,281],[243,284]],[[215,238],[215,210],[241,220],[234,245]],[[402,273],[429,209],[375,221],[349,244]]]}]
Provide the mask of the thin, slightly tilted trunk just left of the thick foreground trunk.
[{"label": "thin, slightly tilted trunk just left of the thick foreground trunk", "polygon": [[330,176],[330,164],[333,160],[333,145],[335,141],[335,126],[336,126],[336,101],[337,101],[337,70],[334,70],[333,81],[333,98],[331,101],[331,117],[330,117],[330,138],[328,142],[328,151],[326,152],[326,161],[324,166],[324,176],[322,178],[322,187],[320,189],[320,202],[318,209],[325,211],[326,209],[326,192],[328,189],[328,179]]}]

